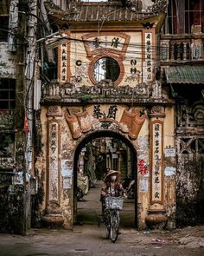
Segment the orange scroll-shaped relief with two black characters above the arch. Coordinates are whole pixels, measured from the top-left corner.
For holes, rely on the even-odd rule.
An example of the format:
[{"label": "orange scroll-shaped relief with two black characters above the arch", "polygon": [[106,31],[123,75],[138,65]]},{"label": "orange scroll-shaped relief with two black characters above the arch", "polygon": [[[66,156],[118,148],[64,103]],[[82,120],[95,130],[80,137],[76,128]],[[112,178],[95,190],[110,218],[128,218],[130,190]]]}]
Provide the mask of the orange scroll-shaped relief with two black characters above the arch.
[{"label": "orange scroll-shaped relief with two black characters above the arch", "polygon": [[86,110],[70,114],[67,109],[65,118],[73,139],[79,139],[82,133],[86,133],[91,129],[121,130],[124,134],[129,135],[132,140],[137,139],[137,135],[146,118],[144,110],[135,108],[126,110],[124,108],[123,115],[119,122],[115,120],[117,110],[118,108],[116,105],[111,105],[108,113],[105,114],[104,112],[101,112],[100,105],[95,105],[92,115],[88,115]]}]

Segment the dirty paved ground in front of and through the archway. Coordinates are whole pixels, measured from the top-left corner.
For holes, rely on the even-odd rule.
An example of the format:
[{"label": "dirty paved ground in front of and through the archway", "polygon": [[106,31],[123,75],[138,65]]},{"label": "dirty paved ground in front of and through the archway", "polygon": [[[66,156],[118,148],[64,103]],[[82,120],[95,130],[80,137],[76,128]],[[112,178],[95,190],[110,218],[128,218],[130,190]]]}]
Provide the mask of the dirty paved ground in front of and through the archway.
[{"label": "dirty paved ground in front of and through the archway", "polygon": [[[134,204],[124,204],[121,234],[116,243],[105,239],[105,226],[97,225],[100,213],[99,189],[92,190],[78,204],[83,225],[67,230],[32,229],[27,236],[0,234],[1,256],[173,256],[204,255],[204,226],[168,231],[138,232],[133,228]],[[128,220],[127,220],[128,219]]]}]

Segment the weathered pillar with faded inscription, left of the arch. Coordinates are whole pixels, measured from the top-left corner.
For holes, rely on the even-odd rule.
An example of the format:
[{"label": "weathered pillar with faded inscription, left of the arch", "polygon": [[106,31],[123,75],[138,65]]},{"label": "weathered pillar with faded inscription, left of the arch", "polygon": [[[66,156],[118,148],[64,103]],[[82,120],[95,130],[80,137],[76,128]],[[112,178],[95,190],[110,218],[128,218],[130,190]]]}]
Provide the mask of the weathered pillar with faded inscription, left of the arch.
[{"label": "weathered pillar with faded inscription, left of the arch", "polygon": [[61,108],[48,108],[47,129],[47,191],[46,214],[42,218],[46,226],[62,226],[61,213]]}]

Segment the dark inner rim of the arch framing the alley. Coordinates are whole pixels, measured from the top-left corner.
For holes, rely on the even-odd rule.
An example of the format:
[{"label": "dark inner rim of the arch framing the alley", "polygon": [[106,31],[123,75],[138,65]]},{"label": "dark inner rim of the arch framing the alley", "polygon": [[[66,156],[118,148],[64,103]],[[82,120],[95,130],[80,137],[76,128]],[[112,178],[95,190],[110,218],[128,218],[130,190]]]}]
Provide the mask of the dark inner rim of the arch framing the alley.
[{"label": "dark inner rim of the arch framing the alley", "polygon": [[[101,131],[94,131],[92,134],[86,135],[86,137],[80,141],[79,145],[75,149],[74,153],[74,161],[73,161],[73,219],[75,222],[78,221],[78,204],[79,202],[76,199],[76,191],[77,191],[77,177],[78,177],[78,168],[79,168],[79,156],[82,148],[85,148],[90,141],[99,139],[99,138],[113,138],[118,141],[123,142],[127,148],[130,149],[131,154],[131,171],[133,174],[133,179],[135,181],[135,194],[133,201],[133,223],[131,227],[137,227],[137,151],[134,148],[133,144],[129,139],[127,139],[124,135],[119,134],[115,131],[110,130],[101,130]],[[99,176],[99,173],[97,174]],[[92,209],[90,209],[92,211]],[[122,211],[123,213],[123,211]],[[132,218],[132,216],[131,216]],[[128,218],[127,218],[128,219]],[[125,221],[124,221],[125,222]],[[128,226],[128,225],[127,225]],[[125,226],[124,226],[125,227]]]}]

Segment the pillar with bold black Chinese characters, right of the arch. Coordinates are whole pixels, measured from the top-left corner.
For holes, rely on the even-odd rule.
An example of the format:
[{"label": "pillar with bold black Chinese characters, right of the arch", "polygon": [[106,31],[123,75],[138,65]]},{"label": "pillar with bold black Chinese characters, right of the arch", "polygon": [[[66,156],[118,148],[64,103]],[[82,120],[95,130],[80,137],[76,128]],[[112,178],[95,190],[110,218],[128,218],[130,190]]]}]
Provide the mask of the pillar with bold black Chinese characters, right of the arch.
[{"label": "pillar with bold black Chinese characters, right of the arch", "polygon": [[163,206],[163,118],[164,108],[155,106],[150,115],[150,207],[145,218],[150,228],[165,226],[167,218]]}]

